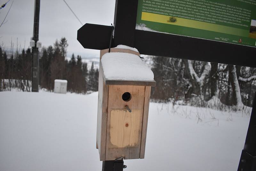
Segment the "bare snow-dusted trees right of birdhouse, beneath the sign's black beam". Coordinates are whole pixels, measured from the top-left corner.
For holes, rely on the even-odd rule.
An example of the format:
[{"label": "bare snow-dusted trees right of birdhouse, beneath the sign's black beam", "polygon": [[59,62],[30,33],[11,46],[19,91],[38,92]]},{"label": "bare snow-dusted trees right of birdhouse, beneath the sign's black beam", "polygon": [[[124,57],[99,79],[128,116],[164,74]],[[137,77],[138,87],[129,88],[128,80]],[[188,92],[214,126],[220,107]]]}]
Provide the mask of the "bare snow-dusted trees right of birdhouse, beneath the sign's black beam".
[{"label": "bare snow-dusted trees right of birdhouse, beneath the sign's black beam", "polygon": [[253,105],[256,68],[166,57],[152,61],[154,99],[204,107],[213,100],[218,107]]}]

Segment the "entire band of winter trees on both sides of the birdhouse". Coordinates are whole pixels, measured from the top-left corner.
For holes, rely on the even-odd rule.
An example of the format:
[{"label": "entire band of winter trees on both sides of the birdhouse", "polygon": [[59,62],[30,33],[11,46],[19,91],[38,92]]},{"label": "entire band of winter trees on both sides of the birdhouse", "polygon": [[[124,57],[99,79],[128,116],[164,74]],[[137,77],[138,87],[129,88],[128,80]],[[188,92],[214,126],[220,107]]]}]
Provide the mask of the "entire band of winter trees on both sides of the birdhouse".
[{"label": "entire band of winter trees on both sides of the birdhouse", "polygon": [[[86,93],[98,91],[98,69],[81,56],[73,54],[67,60],[67,39],[56,40],[53,46],[42,48],[39,58],[39,84],[53,91],[54,80],[68,80],[68,91]],[[156,87],[151,98],[194,106],[252,106],[256,90],[256,69],[186,59],[150,57]],[[0,91],[13,88],[30,91],[32,77],[31,49],[10,56],[0,47]]]}]

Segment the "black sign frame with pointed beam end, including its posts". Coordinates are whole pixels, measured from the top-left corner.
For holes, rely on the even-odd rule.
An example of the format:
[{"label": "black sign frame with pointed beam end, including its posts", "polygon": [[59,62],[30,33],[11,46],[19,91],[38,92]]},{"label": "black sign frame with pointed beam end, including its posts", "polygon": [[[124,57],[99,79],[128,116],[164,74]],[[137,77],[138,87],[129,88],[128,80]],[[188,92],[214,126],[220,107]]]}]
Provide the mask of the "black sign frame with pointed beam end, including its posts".
[{"label": "black sign frame with pointed beam end, including its posts", "polygon": [[[181,35],[136,30],[137,8],[138,0],[116,0],[114,36],[112,36],[112,26],[87,23],[77,31],[77,40],[87,49],[103,50],[123,44],[135,47],[140,54],[145,55],[256,67],[255,47]],[[251,120],[238,171],[255,170],[255,158],[256,102],[254,100]],[[105,163],[109,163],[111,169],[106,167]],[[103,162],[102,170],[117,170],[112,166],[114,166],[113,161],[105,161]]]}]

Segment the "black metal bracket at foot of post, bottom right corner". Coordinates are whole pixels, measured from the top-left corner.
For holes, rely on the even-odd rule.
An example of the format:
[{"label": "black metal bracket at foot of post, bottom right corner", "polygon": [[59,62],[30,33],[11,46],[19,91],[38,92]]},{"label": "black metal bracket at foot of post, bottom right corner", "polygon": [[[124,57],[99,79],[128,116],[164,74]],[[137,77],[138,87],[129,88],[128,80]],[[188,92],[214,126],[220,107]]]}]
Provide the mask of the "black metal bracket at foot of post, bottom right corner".
[{"label": "black metal bracket at foot of post, bottom right corner", "polygon": [[237,170],[238,171],[255,171],[256,170],[256,156],[252,156],[243,150]]}]

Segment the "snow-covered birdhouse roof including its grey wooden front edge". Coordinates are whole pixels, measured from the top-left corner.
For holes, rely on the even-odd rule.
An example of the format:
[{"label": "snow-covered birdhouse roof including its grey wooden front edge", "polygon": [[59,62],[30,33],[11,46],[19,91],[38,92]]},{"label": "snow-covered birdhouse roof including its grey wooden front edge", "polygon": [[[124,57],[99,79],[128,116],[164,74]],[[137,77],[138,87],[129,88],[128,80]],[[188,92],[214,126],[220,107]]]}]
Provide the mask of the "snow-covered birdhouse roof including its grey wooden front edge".
[{"label": "snow-covered birdhouse roof including its grey wooden front edge", "polygon": [[139,56],[110,52],[101,58],[105,82],[115,85],[155,86],[154,74]]}]

